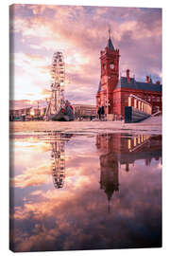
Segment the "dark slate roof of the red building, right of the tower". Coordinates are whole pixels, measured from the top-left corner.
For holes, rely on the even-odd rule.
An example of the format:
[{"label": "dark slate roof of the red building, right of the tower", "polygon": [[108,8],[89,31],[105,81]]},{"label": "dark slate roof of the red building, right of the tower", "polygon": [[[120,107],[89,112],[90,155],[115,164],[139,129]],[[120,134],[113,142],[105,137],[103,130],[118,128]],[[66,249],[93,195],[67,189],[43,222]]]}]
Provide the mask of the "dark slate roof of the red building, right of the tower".
[{"label": "dark slate roof of the red building, right of the tower", "polygon": [[136,90],[154,91],[161,92],[162,85],[151,82],[137,82],[134,78],[130,78],[130,82],[127,82],[127,77],[121,77],[117,83],[115,89],[118,88],[129,88]]}]

